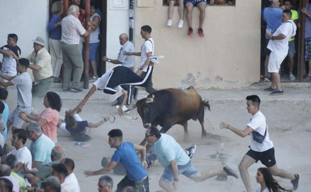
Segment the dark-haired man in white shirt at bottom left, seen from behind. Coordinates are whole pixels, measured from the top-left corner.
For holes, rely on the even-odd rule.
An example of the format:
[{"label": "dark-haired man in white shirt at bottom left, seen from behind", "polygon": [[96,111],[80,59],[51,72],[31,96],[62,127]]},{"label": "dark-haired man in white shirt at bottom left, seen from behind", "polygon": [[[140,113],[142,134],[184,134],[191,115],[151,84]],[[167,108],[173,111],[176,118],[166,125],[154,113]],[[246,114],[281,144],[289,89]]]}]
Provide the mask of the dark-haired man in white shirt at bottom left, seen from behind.
[{"label": "dark-haired man in white shirt at bottom left, seen from behind", "polygon": [[80,186],[78,183],[78,180],[73,173],[73,170],[75,168],[75,164],[72,159],[65,158],[61,162],[66,168],[67,168],[67,177],[65,178],[65,183],[68,184],[71,192],[80,192]]}]

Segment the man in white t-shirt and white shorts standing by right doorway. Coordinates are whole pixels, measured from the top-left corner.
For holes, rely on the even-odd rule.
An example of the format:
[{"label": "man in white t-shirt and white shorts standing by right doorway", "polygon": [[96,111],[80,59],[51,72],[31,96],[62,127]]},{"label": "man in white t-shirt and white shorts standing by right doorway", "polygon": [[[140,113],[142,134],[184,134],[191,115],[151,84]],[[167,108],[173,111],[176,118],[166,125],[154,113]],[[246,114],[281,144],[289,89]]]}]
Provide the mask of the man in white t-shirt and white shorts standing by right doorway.
[{"label": "man in white t-shirt and white shorts standing by right doorway", "polygon": [[265,91],[271,91],[270,95],[283,95],[284,91],[280,81],[280,66],[286,58],[289,49],[289,39],[296,34],[296,24],[292,20],[291,10],[284,10],[282,13],[282,24],[273,33],[267,33],[267,38],[270,39],[267,48],[271,50],[268,72],[272,76],[271,87]]}]

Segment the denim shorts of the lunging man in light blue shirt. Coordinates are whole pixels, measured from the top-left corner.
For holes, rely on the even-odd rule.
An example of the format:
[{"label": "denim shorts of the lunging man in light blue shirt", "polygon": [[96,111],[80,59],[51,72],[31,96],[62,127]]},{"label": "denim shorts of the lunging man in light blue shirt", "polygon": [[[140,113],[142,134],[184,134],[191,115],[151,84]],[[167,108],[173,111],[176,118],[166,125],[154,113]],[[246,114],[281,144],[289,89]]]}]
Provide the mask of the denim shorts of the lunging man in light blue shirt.
[{"label": "denim shorts of the lunging man in light blue shirt", "polygon": [[[189,161],[185,165],[178,165],[178,173],[186,176],[187,178],[192,179],[193,177],[198,176],[200,173],[191,165]],[[172,182],[174,180],[173,171],[171,170],[170,165],[165,167],[161,179],[165,182]]]}]

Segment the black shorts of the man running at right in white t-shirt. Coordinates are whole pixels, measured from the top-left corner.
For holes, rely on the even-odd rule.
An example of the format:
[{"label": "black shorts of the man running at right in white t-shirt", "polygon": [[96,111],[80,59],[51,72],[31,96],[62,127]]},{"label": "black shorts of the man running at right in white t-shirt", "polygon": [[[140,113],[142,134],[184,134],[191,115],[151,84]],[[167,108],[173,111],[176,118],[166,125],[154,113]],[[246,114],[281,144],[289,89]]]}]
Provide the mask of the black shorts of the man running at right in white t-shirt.
[{"label": "black shorts of the man running at right in white t-shirt", "polygon": [[260,162],[264,164],[267,168],[270,168],[277,164],[274,157],[274,148],[271,148],[264,152],[257,152],[250,149],[246,153],[246,155],[253,158],[256,161],[256,163],[258,162],[258,160],[260,160]]}]

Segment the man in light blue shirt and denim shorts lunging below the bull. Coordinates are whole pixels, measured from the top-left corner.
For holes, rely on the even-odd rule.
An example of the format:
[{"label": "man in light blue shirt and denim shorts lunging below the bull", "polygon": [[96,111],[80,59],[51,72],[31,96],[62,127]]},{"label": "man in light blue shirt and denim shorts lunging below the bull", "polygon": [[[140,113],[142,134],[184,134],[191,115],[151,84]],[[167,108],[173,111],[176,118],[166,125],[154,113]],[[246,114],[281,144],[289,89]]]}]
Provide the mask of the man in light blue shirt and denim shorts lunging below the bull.
[{"label": "man in light blue shirt and denim shorts lunging below the bull", "polygon": [[222,170],[202,173],[198,172],[192,165],[191,160],[183,151],[181,146],[169,135],[161,134],[156,127],[150,127],[145,134],[148,143],[154,144],[154,153],[160,164],[165,168],[159,181],[160,187],[166,192],[175,192],[178,188],[179,174],[195,181],[202,182],[214,176],[238,175],[228,166]]}]

